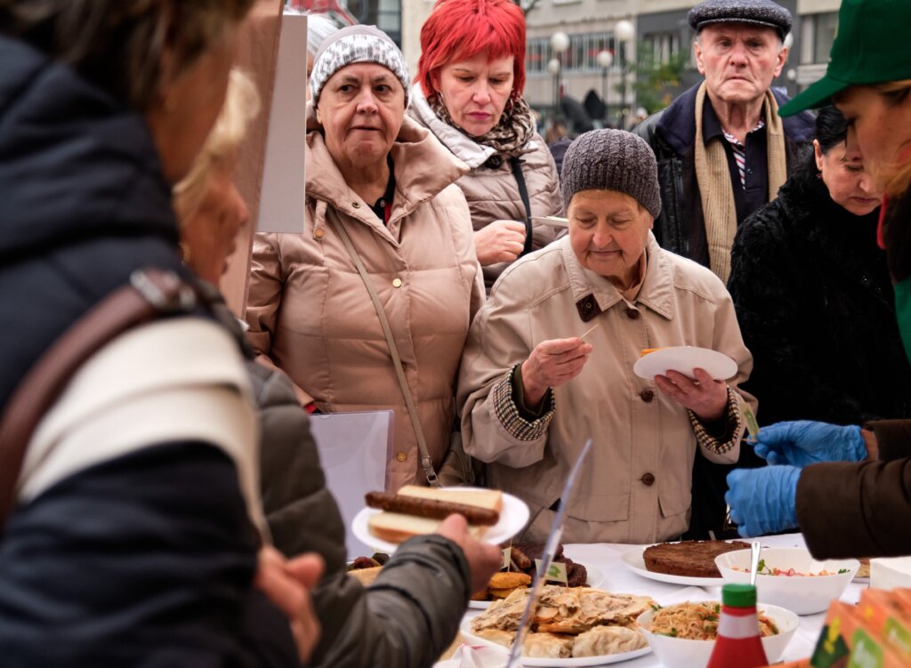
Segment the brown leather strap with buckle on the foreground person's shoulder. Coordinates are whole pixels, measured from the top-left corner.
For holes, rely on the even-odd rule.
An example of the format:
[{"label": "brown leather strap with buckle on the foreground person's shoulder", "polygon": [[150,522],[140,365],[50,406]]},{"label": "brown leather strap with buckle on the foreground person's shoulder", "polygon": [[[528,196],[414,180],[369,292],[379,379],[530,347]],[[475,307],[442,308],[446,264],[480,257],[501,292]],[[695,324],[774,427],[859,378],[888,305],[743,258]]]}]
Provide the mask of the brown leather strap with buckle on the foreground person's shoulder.
[{"label": "brown leather strap with buckle on the foreground person's shoulder", "polygon": [[189,311],[194,288],[173,272],[133,272],[60,336],[16,386],[0,421],[0,532],[15,504],[15,484],[36,426],[78,368],[130,327],[160,313]]}]

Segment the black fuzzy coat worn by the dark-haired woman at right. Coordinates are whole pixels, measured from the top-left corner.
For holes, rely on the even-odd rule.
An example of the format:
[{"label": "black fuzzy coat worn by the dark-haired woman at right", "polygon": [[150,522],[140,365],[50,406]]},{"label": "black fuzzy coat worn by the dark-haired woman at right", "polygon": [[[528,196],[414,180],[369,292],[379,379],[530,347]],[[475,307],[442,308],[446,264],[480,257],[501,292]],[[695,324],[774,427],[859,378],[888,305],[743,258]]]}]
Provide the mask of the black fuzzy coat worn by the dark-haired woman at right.
[{"label": "black fuzzy coat worn by the dark-haired woman at right", "polygon": [[728,289],[755,360],[744,386],[761,425],[911,417],[879,210],[845,210],[818,173],[809,159],[737,231]]}]

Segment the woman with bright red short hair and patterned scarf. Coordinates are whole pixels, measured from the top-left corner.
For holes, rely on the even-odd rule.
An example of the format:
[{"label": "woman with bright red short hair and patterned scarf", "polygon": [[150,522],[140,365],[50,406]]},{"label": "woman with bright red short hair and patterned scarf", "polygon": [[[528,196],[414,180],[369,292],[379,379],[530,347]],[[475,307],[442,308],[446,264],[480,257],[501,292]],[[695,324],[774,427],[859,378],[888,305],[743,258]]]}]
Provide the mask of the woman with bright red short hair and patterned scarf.
[{"label": "woman with bright red short hair and patterned scarf", "polygon": [[489,292],[507,263],[556,238],[531,217],[563,210],[557,167],[522,98],[522,10],[511,0],[438,0],[421,28],[415,83],[411,115],[471,168],[456,183]]}]

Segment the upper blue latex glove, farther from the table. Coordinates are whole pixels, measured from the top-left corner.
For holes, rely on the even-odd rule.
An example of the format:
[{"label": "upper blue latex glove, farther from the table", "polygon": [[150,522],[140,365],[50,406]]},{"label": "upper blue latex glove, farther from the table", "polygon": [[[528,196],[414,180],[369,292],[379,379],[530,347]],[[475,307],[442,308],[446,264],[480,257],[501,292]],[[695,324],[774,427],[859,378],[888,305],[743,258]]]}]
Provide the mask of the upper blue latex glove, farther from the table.
[{"label": "upper blue latex glove, farther from the table", "polygon": [[866,458],[859,426],[835,426],[824,422],[779,422],[763,426],[753,446],[769,464],[804,468],[821,461],[862,461]]}]

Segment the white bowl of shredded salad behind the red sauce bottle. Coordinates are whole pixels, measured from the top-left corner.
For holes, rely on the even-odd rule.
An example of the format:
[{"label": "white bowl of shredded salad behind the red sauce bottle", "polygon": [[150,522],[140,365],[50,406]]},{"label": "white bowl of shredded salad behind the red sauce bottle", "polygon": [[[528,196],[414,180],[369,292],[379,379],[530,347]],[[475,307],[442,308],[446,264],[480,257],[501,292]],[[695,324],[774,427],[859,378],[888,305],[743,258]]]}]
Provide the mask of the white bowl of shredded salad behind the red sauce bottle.
[{"label": "white bowl of shredded salad behind the red sauce bottle", "polygon": [[[769,663],[775,663],[781,658],[788,642],[791,642],[794,632],[800,625],[800,618],[792,611],[784,610],[777,605],[760,603],[756,608],[772,619],[775,626],[778,627],[778,633],[763,638],[765,658],[769,660]],[[705,668],[709,664],[715,641],[671,638],[669,635],[652,633],[650,631],[651,618],[654,614],[653,610],[645,611],[640,614],[638,622],[661,665],[673,666],[673,668]]]}]

